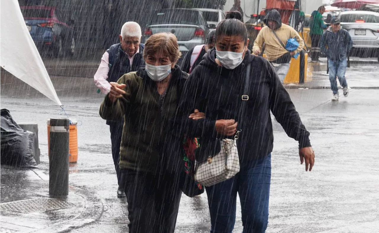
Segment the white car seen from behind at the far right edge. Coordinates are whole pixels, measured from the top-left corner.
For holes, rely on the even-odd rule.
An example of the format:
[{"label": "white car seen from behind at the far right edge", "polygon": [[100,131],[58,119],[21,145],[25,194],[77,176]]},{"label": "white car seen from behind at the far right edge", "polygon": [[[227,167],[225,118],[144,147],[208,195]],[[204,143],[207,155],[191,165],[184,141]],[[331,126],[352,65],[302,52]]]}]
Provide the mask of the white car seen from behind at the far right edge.
[{"label": "white car seen from behind at the far right edge", "polygon": [[351,56],[379,57],[378,12],[344,11],[339,18],[354,43]]}]

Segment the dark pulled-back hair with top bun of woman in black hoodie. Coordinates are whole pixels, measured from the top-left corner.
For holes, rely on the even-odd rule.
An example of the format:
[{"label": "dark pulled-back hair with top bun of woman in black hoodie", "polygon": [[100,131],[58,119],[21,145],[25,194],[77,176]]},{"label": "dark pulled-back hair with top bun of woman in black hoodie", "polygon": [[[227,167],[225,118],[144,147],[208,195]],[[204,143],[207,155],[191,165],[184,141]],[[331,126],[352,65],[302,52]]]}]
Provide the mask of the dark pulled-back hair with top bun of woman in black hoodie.
[{"label": "dark pulled-back hair with top bun of woman in black hoodie", "polygon": [[[235,12],[235,11],[233,11]],[[238,12],[238,11],[236,11]],[[241,13],[238,12],[241,16]],[[222,20],[216,28],[216,40],[219,36],[240,36],[247,42],[247,29],[243,22],[239,19],[224,19]]]}]

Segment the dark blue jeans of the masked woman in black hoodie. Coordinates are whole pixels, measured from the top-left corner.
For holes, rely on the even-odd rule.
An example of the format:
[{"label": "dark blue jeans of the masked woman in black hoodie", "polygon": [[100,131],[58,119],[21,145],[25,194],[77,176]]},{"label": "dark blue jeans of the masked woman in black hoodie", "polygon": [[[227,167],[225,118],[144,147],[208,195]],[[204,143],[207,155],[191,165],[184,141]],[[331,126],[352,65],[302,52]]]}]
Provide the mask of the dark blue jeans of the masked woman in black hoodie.
[{"label": "dark blue jeans of the masked woman in black hoodie", "polygon": [[243,233],[263,233],[268,224],[271,183],[271,154],[224,182],[206,187],[211,216],[211,233],[231,233],[236,218],[237,192],[240,195]]}]

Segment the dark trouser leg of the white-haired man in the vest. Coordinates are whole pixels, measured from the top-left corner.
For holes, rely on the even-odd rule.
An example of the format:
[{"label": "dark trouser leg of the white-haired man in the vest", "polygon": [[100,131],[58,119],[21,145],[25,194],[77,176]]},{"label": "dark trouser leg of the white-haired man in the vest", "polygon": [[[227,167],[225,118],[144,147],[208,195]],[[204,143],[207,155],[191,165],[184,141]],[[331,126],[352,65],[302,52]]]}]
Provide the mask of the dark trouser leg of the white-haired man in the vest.
[{"label": "dark trouser leg of the white-haired man in the vest", "polygon": [[114,163],[114,169],[116,169],[118,185],[122,184],[122,177],[120,176],[120,144],[122,137],[122,127],[124,121],[111,121],[109,123],[109,129],[111,131],[111,143],[112,143],[112,157]]}]

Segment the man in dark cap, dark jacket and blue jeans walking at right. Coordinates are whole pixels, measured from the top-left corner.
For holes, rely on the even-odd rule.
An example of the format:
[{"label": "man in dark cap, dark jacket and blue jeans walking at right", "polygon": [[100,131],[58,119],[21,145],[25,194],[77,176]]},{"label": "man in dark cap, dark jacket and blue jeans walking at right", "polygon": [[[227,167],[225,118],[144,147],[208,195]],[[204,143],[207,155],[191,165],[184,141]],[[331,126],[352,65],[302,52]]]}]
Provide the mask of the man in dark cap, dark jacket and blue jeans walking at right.
[{"label": "man in dark cap, dark jacket and blue jeans walking at right", "polygon": [[353,42],[348,31],[343,29],[338,18],[333,18],[330,27],[324,32],[320,42],[321,52],[328,58],[330,87],[333,91],[332,101],[339,98],[337,80],[343,87],[343,95],[349,95],[345,72],[348,64],[348,55]]}]

